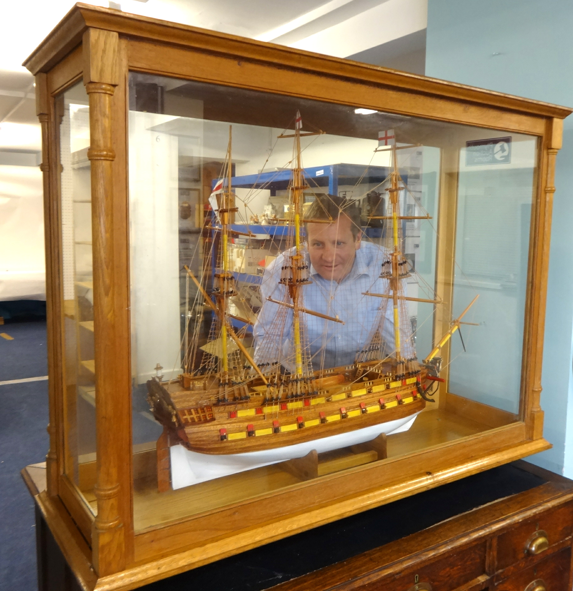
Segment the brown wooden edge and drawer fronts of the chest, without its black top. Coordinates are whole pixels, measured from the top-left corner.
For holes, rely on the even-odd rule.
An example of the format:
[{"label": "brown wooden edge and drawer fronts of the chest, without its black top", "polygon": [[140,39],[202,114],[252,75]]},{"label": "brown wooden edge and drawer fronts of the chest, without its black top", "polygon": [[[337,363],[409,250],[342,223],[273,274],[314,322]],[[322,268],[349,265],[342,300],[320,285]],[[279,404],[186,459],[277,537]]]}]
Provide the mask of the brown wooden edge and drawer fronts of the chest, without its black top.
[{"label": "brown wooden edge and drawer fronts of the chest, without its black top", "polygon": [[573,482],[515,466],[546,482],[273,589],[571,590]]}]

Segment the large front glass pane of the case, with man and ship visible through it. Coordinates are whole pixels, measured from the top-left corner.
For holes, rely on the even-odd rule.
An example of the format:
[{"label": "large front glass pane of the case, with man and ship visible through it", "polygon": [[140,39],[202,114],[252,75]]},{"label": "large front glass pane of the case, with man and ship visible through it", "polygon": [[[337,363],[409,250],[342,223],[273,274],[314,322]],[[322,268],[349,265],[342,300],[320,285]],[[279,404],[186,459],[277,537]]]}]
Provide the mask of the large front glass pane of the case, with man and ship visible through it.
[{"label": "large front glass pane of the case, with man and ship visible through it", "polygon": [[454,269],[481,215],[459,155],[494,132],[143,74],[129,123],[137,530],[491,428],[459,397],[507,410],[468,361],[488,311],[455,322],[489,305]]}]

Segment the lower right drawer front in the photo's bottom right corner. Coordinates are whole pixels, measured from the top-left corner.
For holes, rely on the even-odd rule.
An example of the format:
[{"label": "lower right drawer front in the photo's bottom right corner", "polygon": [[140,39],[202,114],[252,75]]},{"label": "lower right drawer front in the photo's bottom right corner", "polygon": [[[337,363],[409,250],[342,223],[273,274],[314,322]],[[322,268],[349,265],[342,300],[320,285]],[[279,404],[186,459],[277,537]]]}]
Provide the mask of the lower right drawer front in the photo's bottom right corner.
[{"label": "lower right drawer front in the photo's bottom right corner", "polygon": [[501,581],[493,589],[496,591],[566,591],[569,584],[571,566],[571,547],[549,554],[537,564]]}]

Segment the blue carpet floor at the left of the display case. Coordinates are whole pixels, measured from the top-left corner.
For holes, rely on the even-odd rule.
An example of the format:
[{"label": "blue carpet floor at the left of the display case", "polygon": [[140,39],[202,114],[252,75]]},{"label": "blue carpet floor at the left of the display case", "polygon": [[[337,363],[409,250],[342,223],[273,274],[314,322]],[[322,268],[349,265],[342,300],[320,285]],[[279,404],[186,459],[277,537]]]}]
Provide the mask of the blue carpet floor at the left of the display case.
[{"label": "blue carpet floor at the left of the display case", "polygon": [[[5,324],[0,381],[47,374],[46,323]],[[43,462],[48,449],[48,382],[0,385],[0,589],[37,589],[34,502],[20,470]]]}]

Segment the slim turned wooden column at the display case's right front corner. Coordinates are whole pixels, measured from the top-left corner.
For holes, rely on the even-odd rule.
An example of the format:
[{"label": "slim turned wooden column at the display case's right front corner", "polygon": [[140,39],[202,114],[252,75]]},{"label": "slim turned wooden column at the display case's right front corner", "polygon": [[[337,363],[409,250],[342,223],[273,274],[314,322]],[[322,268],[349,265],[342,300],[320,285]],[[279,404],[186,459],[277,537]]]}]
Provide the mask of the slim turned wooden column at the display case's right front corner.
[{"label": "slim turned wooden column at the display case's right front corner", "polygon": [[[551,237],[551,216],[553,211],[553,193],[555,193],[555,160],[561,148],[563,120],[550,119],[545,145],[541,145],[542,162],[539,175],[539,199],[533,211],[534,220],[530,241],[532,243],[532,265],[530,271],[531,323],[524,356],[530,359],[531,367],[524,367],[529,373],[525,388],[525,420],[529,439],[543,437],[543,411],[539,401],[541,397],[541,372],[543,363],[543,337],[545,333],[545,307],[547,300],[547,280],[549,274],[549,245]],[[529,307],[529,306],[528,306]]]}]

